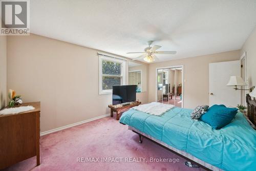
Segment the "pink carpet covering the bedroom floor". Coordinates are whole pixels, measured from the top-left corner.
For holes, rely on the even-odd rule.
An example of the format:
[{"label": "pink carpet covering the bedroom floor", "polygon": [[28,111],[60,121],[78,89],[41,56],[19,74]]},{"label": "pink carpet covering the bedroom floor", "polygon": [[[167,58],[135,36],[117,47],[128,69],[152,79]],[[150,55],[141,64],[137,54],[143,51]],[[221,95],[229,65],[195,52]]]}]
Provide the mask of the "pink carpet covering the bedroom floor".
[{"label": "pink carpet covering the bedroom floor", "polygon": [[[114,115],[115,118],[115,115]],[[5,170],[204,170],[189,168],[185,159],[143,139],[127,125],[111,117],[84,123],[40,138],[41,165],[36,158],[17,163]],[[121,162],[77,162],[77,158],[119,157]],[[146,158],[148,162],[127,162],[124,158]],[[179,162],[149,162],[153,158],[179,159]],[[139,159],[137,161],[140,161]]]}]

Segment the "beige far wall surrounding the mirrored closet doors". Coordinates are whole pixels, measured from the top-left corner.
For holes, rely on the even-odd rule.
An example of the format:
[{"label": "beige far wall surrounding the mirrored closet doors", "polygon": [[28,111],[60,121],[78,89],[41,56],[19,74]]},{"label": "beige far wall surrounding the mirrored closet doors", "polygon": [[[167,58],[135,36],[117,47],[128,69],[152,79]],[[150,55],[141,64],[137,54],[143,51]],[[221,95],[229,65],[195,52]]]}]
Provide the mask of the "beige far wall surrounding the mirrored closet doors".
[{"label": "beige far wall surrounding the mirrored closet doors", "polygon": [[[238,60],[240,51],[152,63],[148,68],[148,102],[156,100],[156,68],[184,65],[184,108],[208,104],[209,63]],[[183,85],[182,85],[183,86]]]}]

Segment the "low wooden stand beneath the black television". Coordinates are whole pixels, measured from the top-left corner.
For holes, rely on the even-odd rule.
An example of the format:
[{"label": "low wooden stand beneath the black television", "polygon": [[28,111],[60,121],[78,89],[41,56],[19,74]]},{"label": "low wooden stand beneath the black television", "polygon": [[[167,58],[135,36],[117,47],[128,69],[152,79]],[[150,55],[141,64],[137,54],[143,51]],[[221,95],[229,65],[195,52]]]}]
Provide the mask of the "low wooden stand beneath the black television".
[{"label": "low wooden stand beneath the black television", "polygon": [[120,114],[140,104],[141,104],[140,101],[131,102],[129,105],[121,105],[121,104],[111,105],[110,104],[109,105],[109,108],[111,110],[110,116],[113,117],[113,112],[116,112],[116,120],[119,120]]}]

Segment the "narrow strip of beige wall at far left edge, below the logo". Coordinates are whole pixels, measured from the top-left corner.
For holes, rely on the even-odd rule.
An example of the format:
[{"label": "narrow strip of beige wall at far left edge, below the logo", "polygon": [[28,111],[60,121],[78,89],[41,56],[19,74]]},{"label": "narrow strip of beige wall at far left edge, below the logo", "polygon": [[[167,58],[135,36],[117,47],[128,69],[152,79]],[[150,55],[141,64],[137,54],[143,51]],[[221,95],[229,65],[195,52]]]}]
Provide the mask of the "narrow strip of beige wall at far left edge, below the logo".
[{"label": "narrow strip of beige wall at far left edge, below the logo", "polygon": [[6,70],[7,70],[7,37],[0,36],[0,109],[4,108],[7,103],[7,96],[6,96]]}]

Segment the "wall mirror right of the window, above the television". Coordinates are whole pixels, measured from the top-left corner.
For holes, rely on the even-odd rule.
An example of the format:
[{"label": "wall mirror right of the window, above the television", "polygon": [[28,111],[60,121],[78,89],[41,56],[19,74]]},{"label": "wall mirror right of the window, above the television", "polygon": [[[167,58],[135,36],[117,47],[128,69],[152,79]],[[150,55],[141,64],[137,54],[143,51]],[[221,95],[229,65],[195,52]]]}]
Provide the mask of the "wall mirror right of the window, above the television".
[{"label": "wall mirror right of the window, above the television", "polygon": [[128,84],[137,85],[136,93],[146,91],[146,65],[134,61],[128,62]]}]

